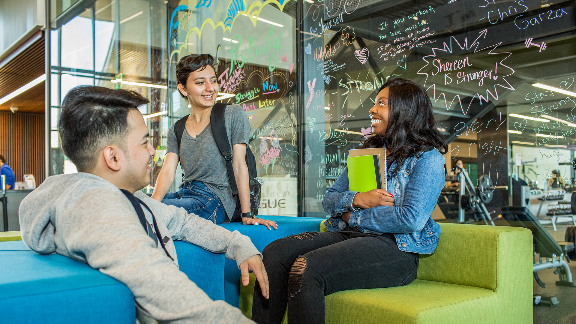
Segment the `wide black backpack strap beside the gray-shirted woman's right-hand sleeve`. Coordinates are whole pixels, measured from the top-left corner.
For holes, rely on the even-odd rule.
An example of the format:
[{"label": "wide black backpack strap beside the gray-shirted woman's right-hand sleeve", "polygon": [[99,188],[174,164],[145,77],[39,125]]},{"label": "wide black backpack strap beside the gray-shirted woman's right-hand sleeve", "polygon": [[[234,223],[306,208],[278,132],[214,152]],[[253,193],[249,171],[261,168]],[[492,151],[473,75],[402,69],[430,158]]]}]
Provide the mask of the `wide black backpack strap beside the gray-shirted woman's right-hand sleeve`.
[{"label": "wide black backpack strap beside the gray-shirted woman's right-hand sleeve", "polygon": [[232,194],[237,195],[238,186],[236,184],[236,178],[234,177],[234,169],[232,168],[232,148],[230,148],[230,142],[228,141],[228,133],[226,133],[226,121],[224,119],[226,106],[228,106],[227,103],[218,103],[212,107],[212,112],[210,114],[210,127],[212,129],[212,134],[214,135],[216,145],[218,146],[218,150],[226,160],[226,171],[228,172],[228,178],[230,179]]}]

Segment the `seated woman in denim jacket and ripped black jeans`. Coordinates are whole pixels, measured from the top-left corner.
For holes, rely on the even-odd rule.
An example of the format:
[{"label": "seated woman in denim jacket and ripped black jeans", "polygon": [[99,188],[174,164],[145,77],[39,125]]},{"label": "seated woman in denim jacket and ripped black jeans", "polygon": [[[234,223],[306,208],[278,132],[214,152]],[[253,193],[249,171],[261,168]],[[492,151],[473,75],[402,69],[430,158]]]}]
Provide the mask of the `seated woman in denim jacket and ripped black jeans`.
[{"label": "seated woman in denim jacket and ripped black jeans", "polygon": [[392,78],[370,109],[373,134],[362,148],[386,146],[388,190],[348,189],[344,172],[323,206],[329,232],[275,240],[263,251],[269,299],[255,285],[252,319],[259,324],[324,323],[324,296],[349,289],[407,285],[418,255],[433,253],[440,227],[431,219],[444,187],[445,140],[430,97],[412,81]]}]

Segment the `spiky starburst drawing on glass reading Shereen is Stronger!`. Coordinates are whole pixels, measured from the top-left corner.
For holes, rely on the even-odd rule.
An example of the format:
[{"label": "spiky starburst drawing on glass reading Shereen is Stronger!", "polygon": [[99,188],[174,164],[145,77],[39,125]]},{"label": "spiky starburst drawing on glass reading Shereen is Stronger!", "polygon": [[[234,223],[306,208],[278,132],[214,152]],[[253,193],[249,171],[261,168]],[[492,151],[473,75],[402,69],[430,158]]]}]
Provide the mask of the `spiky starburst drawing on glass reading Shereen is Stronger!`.
[{"label": "spiky starburst drawing on glass reading Shereen is Stronger!", "polygon": [[[506,59],[512,55],[511,52],[500,52],[498,46],[502,42],[495,43],[494,37],[487,37],[488,29],[480,31],[478,36],[450,36],[446,42],[440,43],[432,48],[431,55],[426,55],[422,59],[426,63],[418,74],[426,76],[424,88],[429,92],[434,101],[446,107],[446,110],[460,108],[464,115],[468,114],[470,107],[479,109],[483,104],[493,100],[499,100],[499,92],[506,89],[514,91],[514,86],[510,84],[507,77],[514,74],[514,69],[506,65]],[[454,71],[438,71],[439,65],[446,65],[453,59],[446,57],[460,57],[461,64],[466,64],[465,69],[461,69],[464,81],[457,78]],[[466,61],[464,61],[466,60]],[[482,70],[475,66],[483,66]],[[484,72],[486,70],[486,72]],[[448,74],[450,73],[450,74]],[[456,81],[460,81],[456,84]],[[444,92],[436,88],[457,89],[465,86],[469,95],[456,94],[457,91]]]}]

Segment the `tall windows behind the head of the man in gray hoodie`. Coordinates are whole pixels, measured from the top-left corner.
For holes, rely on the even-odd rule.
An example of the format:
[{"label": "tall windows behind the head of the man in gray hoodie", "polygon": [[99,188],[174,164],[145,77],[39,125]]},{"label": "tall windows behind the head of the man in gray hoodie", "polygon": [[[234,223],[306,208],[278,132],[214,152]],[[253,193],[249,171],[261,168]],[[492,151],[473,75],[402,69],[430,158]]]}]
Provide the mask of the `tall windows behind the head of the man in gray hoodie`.
[{"label": "tall windows behind the head of the man in gray hoodie", "polygon": [[[164,112],[146,119],[154,146],[160,145],[167,123],[166,3],[97,0],[76,3],[73,9],[77,16],[63,14],[51,24],[52,175],[76,172],[60,149],[56,130],[60,103],[74,86],[123,88],[146,96],[150,104],[141,107],[142,114]],[[159,171],[157,165],[153,174]]]}]

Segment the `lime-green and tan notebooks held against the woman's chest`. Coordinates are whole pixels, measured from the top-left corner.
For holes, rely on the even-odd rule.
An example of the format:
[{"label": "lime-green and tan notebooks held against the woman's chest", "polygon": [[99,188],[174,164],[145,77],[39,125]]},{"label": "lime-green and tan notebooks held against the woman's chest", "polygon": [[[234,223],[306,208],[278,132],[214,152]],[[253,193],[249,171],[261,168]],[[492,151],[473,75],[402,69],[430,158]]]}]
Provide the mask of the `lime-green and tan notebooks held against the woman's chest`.
[{"label": "lime-green and tan notebooks held against the woman's chest", "polygon": [[386,148],[348,151],[348,188],[365,193],[372,189],[388,191]]}]

